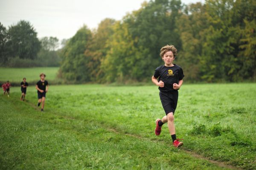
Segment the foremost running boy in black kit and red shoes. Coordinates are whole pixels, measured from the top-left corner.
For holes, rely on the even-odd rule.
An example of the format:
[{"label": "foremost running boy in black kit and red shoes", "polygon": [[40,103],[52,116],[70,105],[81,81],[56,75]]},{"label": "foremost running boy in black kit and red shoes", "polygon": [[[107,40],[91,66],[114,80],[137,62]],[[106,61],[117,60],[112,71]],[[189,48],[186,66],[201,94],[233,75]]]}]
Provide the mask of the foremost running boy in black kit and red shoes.
[{"label": "foremost running boy in black kit and red shoes", "polygon": [[[177,55],[177,49],[173,45],[166,45],[160,50],[160,56],[164,61],[164,65],[155,69],[152,76],[152,82],[159,86],[159,96],[166,115],[162,119],[156,120],[155,134],[160,135],[162,125],[168,122],[168,129],[172,136],[172,144],[174,147],[180,147],[183,142],[176,138],[174,125],[174,112],[177,107],[178,89],[183,83],[183,70],[180,66],[173,64]],[[158,78],[158,81],[157,81]]]}]

